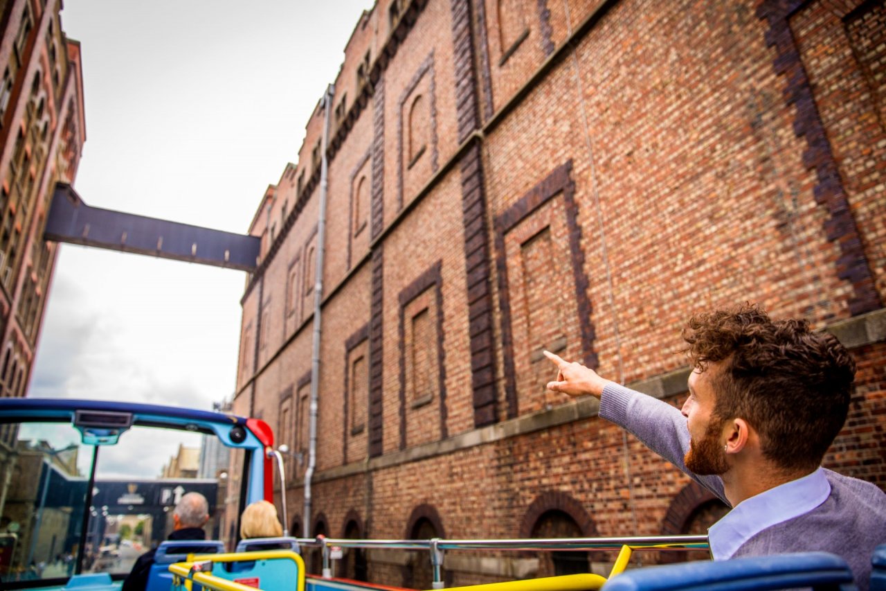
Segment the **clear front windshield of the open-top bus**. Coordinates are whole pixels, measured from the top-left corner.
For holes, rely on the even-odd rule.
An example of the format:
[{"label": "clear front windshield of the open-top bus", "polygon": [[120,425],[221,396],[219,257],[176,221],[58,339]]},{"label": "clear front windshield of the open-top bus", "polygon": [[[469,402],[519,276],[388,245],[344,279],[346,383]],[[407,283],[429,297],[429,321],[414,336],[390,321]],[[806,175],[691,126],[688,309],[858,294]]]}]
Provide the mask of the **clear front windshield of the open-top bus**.
[{"label": "clear front windshield of the open-top bus", "polygon": [[0,425],[0,580],[121,578],[172,532],[184,493],[209,503],[206,538],[226,537],[228,452],[214,435],[178,429],[133,426],[96,446],[70,422]]}]

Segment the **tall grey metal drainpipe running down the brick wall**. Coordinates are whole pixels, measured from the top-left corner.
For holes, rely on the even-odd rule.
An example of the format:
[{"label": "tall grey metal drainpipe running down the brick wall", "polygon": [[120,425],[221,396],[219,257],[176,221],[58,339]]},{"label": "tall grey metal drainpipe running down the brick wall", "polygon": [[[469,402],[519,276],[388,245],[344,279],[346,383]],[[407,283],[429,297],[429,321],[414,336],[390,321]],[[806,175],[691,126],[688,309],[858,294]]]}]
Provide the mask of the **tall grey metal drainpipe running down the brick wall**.
[{"label": "tall grey metal drainpipe running down the brick wall", "polygon": [[311,531],[311,478],[314,477],[314,468],[317,463],[317,398],[320,394],[320,335],[322,324],[320,306],[323,303],[323,251],[324,235],[326,233],[326,190],[329,186],[329,161],[326,158],[326,148],[329,146],[330,114],[332,112],[332,96],[335,94],[335,86],[330,84],[326,87],[326,95],[323,97],[323,148],[320,160],[320,218],[317,221],[317,264],[314,272],[314,345],[311,353],[311,405],[310,419],[307,426],[307,469],[305,470],[305,524],[304,535],[310,537]]}]

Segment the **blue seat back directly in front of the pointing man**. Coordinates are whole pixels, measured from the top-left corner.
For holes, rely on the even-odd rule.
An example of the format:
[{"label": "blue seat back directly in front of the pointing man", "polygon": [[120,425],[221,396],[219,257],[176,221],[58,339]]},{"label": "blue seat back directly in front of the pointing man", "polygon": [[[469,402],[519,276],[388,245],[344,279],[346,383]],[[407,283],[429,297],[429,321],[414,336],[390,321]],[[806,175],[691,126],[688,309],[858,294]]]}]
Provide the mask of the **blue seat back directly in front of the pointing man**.
[{"label": "blue seat back directly in front of the pointing man", "polygon": [[812,587],[854,589],[852,571],[839,556],[804,552],[719,562],[650,566],[610,579],[604,591],[764,591]]}]

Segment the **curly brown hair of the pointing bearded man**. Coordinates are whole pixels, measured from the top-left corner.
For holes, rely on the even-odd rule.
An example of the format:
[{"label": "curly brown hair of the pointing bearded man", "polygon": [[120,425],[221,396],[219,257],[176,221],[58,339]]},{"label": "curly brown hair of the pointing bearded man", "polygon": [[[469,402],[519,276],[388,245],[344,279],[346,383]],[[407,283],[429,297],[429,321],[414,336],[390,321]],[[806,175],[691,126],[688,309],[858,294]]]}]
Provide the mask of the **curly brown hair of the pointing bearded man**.
[{"label": "curly brown hair of the pointing bearded man", "polygon": [[683,329],[698,371],[712,382],[721,419],[741,417],[782,469],[815,469],[849,410],[855,361],[834,335],[801,319],[772,320],[758,305],[696,314]]}]

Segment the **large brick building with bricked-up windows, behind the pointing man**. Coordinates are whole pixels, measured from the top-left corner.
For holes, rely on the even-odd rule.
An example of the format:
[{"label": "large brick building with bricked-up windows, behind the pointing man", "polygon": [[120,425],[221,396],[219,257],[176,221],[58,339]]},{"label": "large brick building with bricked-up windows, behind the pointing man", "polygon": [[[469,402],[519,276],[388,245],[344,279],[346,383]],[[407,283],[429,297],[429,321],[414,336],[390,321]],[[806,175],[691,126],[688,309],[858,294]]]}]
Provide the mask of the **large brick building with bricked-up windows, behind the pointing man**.
[{"label": "large brick building with bricked-up windows, behind the pointing man", "polygon": [[[540,351],[679,405],[682,323],[747,300],[851,347],[827,465],[886,485],[884,45],[882,0],[377,0],[334,81],[323,245],[323,100],[251,226],[233,409],[293,452],[291,530],[320,246],[311,535],[703,532],[717,501],[546,391]],[[344,568],[421,588],[426,560]],[[601,560],[451,553],[446,573]]]}]

